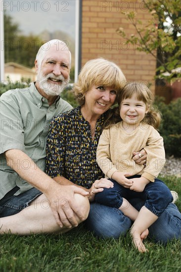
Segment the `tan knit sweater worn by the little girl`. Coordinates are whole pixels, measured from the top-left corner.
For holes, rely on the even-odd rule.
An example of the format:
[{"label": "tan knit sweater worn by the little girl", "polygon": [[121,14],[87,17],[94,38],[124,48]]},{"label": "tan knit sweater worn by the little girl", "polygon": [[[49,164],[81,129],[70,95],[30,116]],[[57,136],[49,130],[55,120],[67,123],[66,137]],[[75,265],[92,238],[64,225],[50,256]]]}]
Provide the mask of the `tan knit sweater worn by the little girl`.
[{"label": "tan knit sweater worn by the little girl", "polygon": [[[146,166],[132,159],[133,152],[142,148],[147,152]],[[97,163],[106,178],[116,171],[141,175],[154,181],[165,164],[163,138],[150,125],[140,123],[131,134],[122,127],[122,122],[103,130],[97,147]]]}]

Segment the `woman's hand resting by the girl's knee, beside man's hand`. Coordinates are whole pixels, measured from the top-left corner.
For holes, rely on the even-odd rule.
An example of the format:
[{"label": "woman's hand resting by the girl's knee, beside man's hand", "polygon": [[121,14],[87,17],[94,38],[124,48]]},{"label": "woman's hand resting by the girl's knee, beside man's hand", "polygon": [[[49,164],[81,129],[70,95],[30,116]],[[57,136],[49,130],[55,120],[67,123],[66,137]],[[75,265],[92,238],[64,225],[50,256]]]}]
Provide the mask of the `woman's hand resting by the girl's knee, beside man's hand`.
[{"label": "woman's hand resting by the girl's knee, beside man's hand", "polygon": [[89,192],[90,192],[90,194],[88,195],[89,201],[92,202],[94,200],[95,194],[102,192],[104,190],[103,188],[113,188],[113,187],[114,187],[113,182],[105,178],[94,181],[89,189]]}]

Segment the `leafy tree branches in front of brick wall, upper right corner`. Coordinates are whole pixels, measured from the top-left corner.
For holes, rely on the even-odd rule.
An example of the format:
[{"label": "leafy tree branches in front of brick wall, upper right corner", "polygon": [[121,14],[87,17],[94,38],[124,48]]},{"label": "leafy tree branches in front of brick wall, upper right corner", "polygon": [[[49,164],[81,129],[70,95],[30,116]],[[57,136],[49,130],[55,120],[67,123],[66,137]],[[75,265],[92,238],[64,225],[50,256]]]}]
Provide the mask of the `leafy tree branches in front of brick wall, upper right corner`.
[{"label": "leafy tree branches in front of brick wall, upper right corner", "polygon": [[180,0],[142,0],[145,8],[151,13],[152,19],[143,25],[136,19],[136,12],[123,12],[135,27],[136,35],[127,37],[122,27],[117,33],[134,44],[138,51],[151,54],[157,60],[157,76],[174,82],[181,78],[181,72],[172,71],[181,67],[181,9]]}]

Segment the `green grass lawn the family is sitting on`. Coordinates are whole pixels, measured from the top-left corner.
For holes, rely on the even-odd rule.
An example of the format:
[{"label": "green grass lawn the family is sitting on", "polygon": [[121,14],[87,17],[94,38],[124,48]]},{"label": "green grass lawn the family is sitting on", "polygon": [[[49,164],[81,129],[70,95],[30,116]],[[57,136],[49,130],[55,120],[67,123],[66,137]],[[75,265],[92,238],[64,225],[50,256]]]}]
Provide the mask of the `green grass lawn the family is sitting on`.
[{"label": "green grass lawn the family is sitting on", "polygon": [[[179,193],[181,181],[162,180]],[[139,253],[129,235],[97,239],[82,226],[63,235],[0,236],[0,272],[180,272],[181,241],[167,246],[145,242],[149,252]]]}]

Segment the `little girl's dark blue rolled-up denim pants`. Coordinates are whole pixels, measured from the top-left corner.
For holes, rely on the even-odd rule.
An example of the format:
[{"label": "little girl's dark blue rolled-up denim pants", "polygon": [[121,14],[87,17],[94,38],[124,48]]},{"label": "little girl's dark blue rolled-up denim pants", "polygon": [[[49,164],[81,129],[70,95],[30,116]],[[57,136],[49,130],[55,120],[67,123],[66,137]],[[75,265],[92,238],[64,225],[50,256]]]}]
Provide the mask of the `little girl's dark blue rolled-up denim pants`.
[{"label": "little girl's dark blue rolled-up denim pants", "polygon": [[[138,175],[130,179],[140,177]],[[173,201],[170,189],[163,181],[155,179],[155,182],[149,182],[143,192],[132,191],[125,188],[114,180],[113,188],[104,188],[100,193],[95,194],[95,202],[119,209],[123,203],[123,197],[128,201],[133,198],[145,200],[144,206],[156,216],[160,216],[169,203]]]}]

